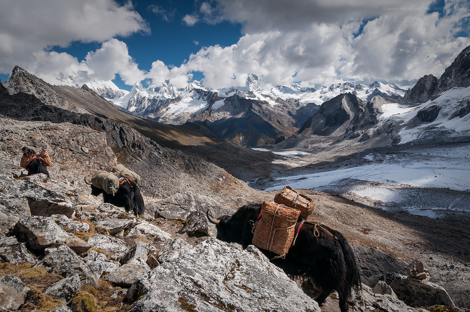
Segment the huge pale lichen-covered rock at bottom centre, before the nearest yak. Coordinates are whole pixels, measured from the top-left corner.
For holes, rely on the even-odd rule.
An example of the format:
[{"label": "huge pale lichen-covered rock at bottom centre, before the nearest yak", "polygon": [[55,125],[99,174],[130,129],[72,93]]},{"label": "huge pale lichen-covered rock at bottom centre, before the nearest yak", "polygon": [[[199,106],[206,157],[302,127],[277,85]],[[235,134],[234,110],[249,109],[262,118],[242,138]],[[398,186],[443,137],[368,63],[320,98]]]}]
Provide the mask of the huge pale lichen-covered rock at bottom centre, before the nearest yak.
[{"label": "huge pale lichen-covered rock at bottom centre, before the nearest yak", "polygon": [[254,246],[236,250],[207,238],[192,248],[177,238],[162,263],[139,276],[126,295],[129,311],[310,311],[318,304]]}]

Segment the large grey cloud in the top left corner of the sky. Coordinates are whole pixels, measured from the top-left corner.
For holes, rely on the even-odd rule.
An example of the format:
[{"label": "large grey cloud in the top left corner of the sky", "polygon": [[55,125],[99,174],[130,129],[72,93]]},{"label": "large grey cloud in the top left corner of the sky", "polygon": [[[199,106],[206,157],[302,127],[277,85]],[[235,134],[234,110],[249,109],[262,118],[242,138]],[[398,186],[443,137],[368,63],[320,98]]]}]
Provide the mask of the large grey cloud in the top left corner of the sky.
[{"label": "large grey cloud in the top left corner of the sky", "polygon": [[39,69],[41,51],[50,47],[102,42],[138,31],[149,33],[149,26],[130,1],[122,6],[114,0],[2,1],[0,72],[9,73],[15,65]]}]

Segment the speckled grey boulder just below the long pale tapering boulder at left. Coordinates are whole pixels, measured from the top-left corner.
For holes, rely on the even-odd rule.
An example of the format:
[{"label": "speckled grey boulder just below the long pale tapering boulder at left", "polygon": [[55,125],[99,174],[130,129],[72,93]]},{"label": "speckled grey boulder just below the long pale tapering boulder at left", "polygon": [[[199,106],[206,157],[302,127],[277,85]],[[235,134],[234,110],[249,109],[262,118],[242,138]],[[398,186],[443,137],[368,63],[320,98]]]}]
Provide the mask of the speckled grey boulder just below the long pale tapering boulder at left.
[{"label": "speckled grey boulder just below the long pale tapering boulder at left", "polygon": [[61,274],[65,277],[78,274],[82,284],[96,284],[98,281],[90,268],[85,265],[82,258],[78,257],[70,248],[50,252],[33,267],[38,266],[43,266],[49,273]]}]

